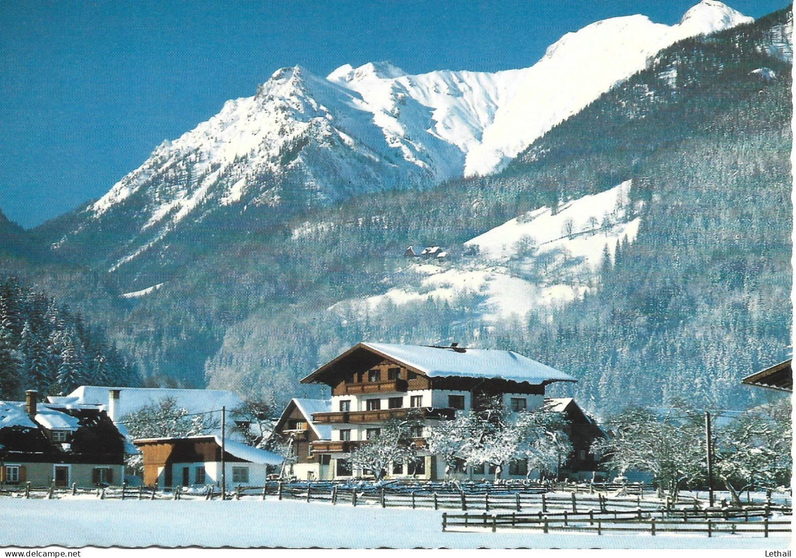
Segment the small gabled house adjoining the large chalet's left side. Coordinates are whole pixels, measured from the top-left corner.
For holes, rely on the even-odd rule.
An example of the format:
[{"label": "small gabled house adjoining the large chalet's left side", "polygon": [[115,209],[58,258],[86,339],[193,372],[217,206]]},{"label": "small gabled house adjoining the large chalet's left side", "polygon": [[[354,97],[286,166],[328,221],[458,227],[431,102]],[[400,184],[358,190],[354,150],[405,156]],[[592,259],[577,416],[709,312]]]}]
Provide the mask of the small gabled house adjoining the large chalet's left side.
[{"label": "small gabled house adjoining the large chalet's left side", "polygon": [[286,474],[297,479],[330,480],[334,478],[329,454],[313,454],[314,442],[332,439],[331,424],[313,420],[313,413],[330,413],[332,403],[326,399],[294,397],[279,417],[275,432],[290,440],[291,463]]}]

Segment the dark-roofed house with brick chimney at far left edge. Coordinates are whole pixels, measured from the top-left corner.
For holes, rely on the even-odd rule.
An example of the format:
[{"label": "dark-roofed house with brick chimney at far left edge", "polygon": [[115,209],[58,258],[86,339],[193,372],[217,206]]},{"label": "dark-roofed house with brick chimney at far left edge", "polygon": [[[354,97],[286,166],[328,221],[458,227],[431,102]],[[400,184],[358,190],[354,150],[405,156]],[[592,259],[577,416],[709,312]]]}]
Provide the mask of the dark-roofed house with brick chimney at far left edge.
[{"label": "dark-roofed house with brick chimney at far left edge", "polygon": [[123,480],[125,442],[94,405],[0,401],[0,482],[104,486]]}]

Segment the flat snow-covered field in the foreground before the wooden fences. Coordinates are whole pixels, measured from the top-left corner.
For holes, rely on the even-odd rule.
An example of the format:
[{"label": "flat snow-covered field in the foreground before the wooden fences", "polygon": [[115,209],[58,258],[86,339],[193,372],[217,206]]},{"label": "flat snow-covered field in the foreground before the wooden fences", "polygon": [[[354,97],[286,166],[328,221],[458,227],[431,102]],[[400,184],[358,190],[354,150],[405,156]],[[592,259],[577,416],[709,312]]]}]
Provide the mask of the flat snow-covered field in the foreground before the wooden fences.
[{"label": "flat snow-covered field in the foreground before the wooden fences", "polygon": [[[2,498],[0,545],[784,549],[790,537],[443,533],[442,512],[324,503]],[[762,555],[760,555],[762,556]]]}]

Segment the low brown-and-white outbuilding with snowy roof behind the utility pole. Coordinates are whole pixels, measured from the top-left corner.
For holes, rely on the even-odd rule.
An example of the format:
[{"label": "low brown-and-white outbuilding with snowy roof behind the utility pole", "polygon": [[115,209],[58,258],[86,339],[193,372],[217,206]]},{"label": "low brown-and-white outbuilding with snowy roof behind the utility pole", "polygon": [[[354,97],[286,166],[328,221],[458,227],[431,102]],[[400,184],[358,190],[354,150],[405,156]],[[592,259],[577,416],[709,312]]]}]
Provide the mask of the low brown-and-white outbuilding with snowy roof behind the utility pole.
[{"label": "low brown-and-white outbuilding with snowy roof behind the utility pole", "polygon": [[[146,486],[206,486],[221,483],[219,436],[150,438],[133,442],[143,456]],[[283,457],[234,440],[224,440],[224,471],[227,488],[263,486],[268,467],[279,466]]]}]

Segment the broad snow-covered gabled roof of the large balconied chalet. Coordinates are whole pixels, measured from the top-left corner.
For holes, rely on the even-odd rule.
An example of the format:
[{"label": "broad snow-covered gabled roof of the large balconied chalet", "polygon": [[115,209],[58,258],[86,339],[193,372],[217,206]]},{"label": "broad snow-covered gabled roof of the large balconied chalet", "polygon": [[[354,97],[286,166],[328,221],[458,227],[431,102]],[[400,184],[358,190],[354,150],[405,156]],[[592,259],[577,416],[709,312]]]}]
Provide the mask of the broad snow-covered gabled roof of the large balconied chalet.
[{"label": "broad snow-covered gabled roof of the large balconied chalet", "polygon": [[514,351],[466,349],[461,347],[427,347],[392,343],[358,343],[338,358],[327,362],[302,383],[314,382],[327,371],[334,370],[342,359],[356,351],[369,351],[382,358],[406,366],[429,378],[500,378],[513,382],[545,385],[550,382],[577,382],[569,374]]}]

